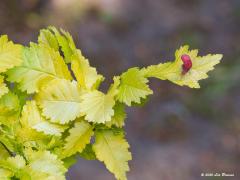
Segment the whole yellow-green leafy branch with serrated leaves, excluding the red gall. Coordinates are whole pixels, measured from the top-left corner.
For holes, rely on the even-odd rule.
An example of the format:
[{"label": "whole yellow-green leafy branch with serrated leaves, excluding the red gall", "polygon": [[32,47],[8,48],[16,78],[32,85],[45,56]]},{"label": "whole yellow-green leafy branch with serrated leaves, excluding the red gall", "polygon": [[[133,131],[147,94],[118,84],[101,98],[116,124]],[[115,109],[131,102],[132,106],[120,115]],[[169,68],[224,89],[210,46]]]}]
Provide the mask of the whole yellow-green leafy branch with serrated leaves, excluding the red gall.
[{"label": "whole yellow-green leafy branch with serrated leaves, excluding the red gall", "polygon": [[[181,56],[192,60],[182,73]],[[149,78],[199,88],[198,81],[222,55],[198,56],[188,46],[175,60],[134,67],[106,93],[104,80],[76,48],[68,32],[49,27],[37,43],[14,44],[0,37],[0,178],[65,179],[77,156],[102,161],[116,179],[127,179],[132,159],[123,127],[126,106],[141,104],[153,93]]]}]

